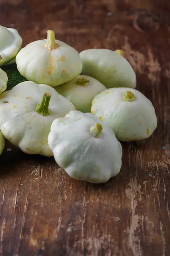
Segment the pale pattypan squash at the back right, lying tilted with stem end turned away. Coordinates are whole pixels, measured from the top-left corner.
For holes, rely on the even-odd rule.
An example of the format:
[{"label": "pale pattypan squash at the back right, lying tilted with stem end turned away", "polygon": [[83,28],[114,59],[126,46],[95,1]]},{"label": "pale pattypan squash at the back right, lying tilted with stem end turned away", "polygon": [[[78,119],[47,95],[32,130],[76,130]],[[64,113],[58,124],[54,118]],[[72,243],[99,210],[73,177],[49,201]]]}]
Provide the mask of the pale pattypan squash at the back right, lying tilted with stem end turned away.
[{"label": "pale pattypan squash at the back right, lying tilted with stem end turned away", "polygon": [[136,87],[136,74],[121,50],[88,49],[80,52],[82,74],[92,76],[107,88]]}]

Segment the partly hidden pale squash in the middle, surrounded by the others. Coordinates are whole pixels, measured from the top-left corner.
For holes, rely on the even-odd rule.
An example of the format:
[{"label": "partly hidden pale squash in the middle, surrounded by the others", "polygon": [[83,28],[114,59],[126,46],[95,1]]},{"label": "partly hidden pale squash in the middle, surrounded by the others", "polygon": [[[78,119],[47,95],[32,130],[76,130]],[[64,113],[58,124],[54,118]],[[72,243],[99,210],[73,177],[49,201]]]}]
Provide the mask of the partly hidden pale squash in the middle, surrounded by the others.
[{"label": "partly hidden pale squash in the middle, surrounded by the others", "polygon": [[106,87],[90,76],[79,75],[54,89],[71,101],[77,110],[91,112],[91,102],[94,96],[106,90]]}]

